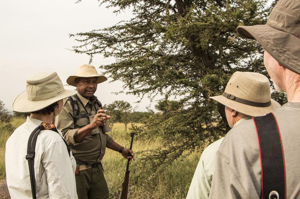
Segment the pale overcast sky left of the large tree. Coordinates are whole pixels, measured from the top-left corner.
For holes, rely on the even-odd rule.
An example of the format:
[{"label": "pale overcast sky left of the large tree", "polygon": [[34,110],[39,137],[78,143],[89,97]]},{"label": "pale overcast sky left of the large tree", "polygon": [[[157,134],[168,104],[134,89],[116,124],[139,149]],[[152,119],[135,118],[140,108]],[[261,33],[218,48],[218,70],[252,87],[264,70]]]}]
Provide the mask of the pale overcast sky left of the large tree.
[{"label": "pale overcast sky left of the large tree", "polygon": [[[30,74],[56,71],[63,84],[66,84],[68,76],[76,74],[80,65],[88,63],[87,55],[66,50],[78,44],[73,38],[69,38],[69,33],[109,27],[132,16],[129,10],[116,15],[113,9],[107,9],[104,5],[99,7],[97,0],[75,2],[76,0],[0,1],[0,100],[9,110],[13,99],[26,90],[26,79]],[[104,59],[98,55],[91,64],[101,74],[98,67],[113,61],[113,58]],[[136,96],[111,94],[121,91],[122,85],[122,82],[101,83],[95,95],[102,104],[125,100],[132,106],[138,105],[138,111],[146,111],[146,106],[150,104],[147,98],[140,104],[135,104]],[[161,97],[156,99],[159,98]],[[155,104],[156,102],[152,103],[152,109]]]}]

